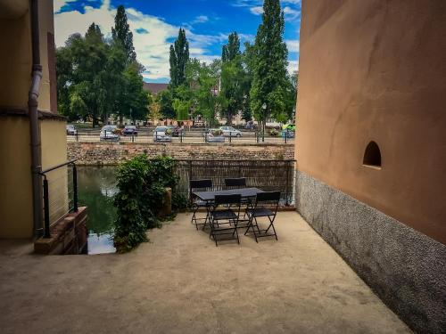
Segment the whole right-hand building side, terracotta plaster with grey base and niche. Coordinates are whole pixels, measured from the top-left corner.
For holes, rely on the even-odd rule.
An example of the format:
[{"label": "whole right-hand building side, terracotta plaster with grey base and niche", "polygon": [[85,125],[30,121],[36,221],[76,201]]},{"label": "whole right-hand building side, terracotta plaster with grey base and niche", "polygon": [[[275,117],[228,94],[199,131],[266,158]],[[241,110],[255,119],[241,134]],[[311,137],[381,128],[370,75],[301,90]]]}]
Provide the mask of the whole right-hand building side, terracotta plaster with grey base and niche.
[{"label": "whole right-hand building side, terracotta plaster with grey base and niche", "polygon": [[420,332],[446,329],[446,4],[302,1],[301,215]]}]

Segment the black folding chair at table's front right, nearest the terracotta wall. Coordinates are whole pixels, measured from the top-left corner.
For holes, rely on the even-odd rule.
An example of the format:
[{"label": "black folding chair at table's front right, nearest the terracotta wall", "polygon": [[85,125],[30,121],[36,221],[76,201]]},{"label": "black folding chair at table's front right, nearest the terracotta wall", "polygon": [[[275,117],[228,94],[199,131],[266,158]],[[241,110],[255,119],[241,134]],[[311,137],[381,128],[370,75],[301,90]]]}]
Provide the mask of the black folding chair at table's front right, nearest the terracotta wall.
[{"label": "black folding chair at table's front right, nearest the terracotta wall", "polygon": [[[280,200],[280,191],[258,192],[254,206],[246,210],[249,223],[248,223],[248,228],[244,232],[244,235],[250,232],[254,233],[254,238],[256,242],[259,242],[258,238],[272,237],[272,236],[276,237],[277,240],[277,233],[276,229],[274,228],[274,220],[276,219],[279,200]],[[267,204],[268,208],[265,206]],[[257,223],[257,218],[260,217],[268,217],[269,226],[265,230],[260,230],[259,224]],[[252,231],[250,231],[250,229],[252,229]],[[268,233],[269,229],[271,229],[273,233]]]}]

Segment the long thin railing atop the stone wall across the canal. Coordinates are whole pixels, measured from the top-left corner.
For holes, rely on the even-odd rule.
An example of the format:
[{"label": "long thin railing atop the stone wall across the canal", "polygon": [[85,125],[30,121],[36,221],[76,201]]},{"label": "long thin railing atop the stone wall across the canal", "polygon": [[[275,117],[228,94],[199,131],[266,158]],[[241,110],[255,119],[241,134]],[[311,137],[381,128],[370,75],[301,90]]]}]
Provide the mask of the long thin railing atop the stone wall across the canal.
[{"label": "long thin railing atop the stone wall across the canal", "polygon": [[[164,134],[164,133],[162,133]],[[210,135],[208,129],[180,131],[161,137],[161,133],[154,130],[139,129],[137,134],[108,134],[100,135],[100,130],[78,130],[75,134],[67,134],[68,142],[80,143],[293,143],[294,132],[284,130],[277,135],[263,134],[254,131],[227,132],[223,135]]]}]

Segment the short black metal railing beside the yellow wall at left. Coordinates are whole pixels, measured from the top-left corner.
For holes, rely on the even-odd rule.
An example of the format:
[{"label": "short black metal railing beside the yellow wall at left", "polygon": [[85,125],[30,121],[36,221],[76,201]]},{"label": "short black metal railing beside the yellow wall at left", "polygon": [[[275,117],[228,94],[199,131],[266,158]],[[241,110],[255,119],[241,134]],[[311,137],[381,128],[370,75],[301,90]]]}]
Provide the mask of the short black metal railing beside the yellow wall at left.
[{"label": "short black metal railing beside the yellow wall at left", "polygon": [[39,174],[43,177],[44,238],[51,238],[50,228],[63,216],[78,211],[78,171],[76,159]]}]

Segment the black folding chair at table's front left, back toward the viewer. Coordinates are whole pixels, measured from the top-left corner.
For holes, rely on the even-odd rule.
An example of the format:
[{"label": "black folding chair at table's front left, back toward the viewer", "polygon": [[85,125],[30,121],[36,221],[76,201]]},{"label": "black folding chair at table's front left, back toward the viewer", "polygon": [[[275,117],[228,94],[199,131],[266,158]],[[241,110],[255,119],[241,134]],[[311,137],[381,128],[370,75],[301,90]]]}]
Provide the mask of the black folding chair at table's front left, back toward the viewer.
[{"label": "black folding chair at table's front left, back toward the viewer", "polygon": [[[238,239],[237,224],[238,216],[240,216],[240,205],[242,196],[240,194],[230,194],[230,195],[216,195],[213,203],[211,215],[210,215],[210,225],[211,234],[210,238],[215,241],[215,246],[218,246],[218,239],[221,235],[229,235],[229,238],[224,240],[237,240]],[[233,208],[219,209],[219,206],[233,206]],[[224,221],[222,223],[222,221]],[[220,227],[220,225],[228,225],[228,227]]]}]

